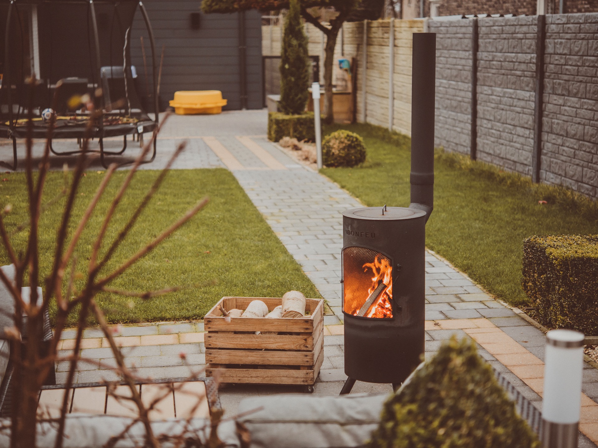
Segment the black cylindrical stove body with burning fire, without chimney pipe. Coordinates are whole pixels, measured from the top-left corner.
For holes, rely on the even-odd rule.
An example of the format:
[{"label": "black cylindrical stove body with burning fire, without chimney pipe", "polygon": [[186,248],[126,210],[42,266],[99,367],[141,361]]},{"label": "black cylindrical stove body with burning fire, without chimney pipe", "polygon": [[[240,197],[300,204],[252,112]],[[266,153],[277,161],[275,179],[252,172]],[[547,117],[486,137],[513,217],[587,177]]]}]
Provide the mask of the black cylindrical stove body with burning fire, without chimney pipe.
[{"label": "black cylindrical stove body with burning fire, without chimney pipe", "polygon": [[424,351],[426,213],[404,207],[343,213],[344,372],[401,383]]}]

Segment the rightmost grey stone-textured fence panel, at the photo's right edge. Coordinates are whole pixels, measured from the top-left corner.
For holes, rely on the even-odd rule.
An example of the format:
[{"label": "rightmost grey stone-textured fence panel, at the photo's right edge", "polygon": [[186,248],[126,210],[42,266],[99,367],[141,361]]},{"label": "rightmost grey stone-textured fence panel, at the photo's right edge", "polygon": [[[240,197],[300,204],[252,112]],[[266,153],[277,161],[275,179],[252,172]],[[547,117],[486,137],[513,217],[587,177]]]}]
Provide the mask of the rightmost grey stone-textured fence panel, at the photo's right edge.
[{"label": "rightmost grey stone-textured fence panel, at the photo's right edge", "polygon": [[598,14],[546,22],[541,179],[598,197]]}]

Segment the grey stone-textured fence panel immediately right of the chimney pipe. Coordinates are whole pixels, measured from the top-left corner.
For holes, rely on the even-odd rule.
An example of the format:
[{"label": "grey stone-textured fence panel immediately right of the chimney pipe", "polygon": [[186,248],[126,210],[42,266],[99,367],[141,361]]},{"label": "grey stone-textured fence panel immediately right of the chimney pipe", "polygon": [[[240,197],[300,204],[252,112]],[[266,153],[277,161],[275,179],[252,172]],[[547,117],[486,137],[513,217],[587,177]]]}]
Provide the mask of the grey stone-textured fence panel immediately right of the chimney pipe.
[{"label": "grey stone-textured fence panel immediately right of the chimney pipe", "polygon": [[437,35],[435,145],[469,154],[472,21],[432,21],[429,28]]}]

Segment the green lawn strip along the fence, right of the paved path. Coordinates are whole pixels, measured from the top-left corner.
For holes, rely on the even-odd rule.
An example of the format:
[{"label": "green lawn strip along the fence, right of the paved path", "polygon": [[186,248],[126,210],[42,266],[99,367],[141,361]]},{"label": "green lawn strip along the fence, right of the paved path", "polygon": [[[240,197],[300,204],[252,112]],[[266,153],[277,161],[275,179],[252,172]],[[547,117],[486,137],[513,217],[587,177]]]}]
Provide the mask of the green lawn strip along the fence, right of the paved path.
[{"label": "green lawn strip along the fence, right of the paved path", "polygon": [[[324,168],[322,173],[367,205],[406,207],[410,140],[371,125],[342,128],[364,137],[367,160],[359,167]],[[435,161],[434,194],[426,245],[513,304],[526,300],[520,286],[524,238],[598,233],[595,202],[579,201],[565,189],[533,186],[516,174],[441,152]],[[548,204],[538,204],[542,199]]]}]

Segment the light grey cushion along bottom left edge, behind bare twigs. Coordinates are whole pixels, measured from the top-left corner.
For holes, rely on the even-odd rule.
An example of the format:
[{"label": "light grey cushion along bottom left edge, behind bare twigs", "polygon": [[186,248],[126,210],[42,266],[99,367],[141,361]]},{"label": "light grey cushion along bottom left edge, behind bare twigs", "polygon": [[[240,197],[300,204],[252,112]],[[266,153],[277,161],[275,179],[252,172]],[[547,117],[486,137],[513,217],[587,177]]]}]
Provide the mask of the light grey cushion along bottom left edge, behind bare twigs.
[{"label": "light grey cushion along bottom left edge, behind bare twigs", "polygon": [[[120,434],[132,422],[130,418],[114,417],[108,415],[69,414],[66,416],[64,448],[102,448],[111,437]],[[2,426],[9,426],[8,419],[0,420]],[[37,443],[38,448],[54,448],[56,443],[56,424],[39,423]],[[167,434],[170,436],[183,435],[184,437],[197,437],[205,443],[209,435],[209,421],[207,419],[192,419],[189,424],[181,419],[171,419],[163,422],[152,422],[155,435]],[[129,429],[129,436],[115,444],[115,448],[138,448],[144,446],[145,428],[137,422]],[[218,428],[218,437],[228,448],[239,448],[239,438],[236,435],[234,422],[222,423]],[[10,446],[10,432],[0,432],[0,447]],[[163,448],[180,447],[164,441],[160,444]],[[182,444],[184,446],[184,444]]]}]

